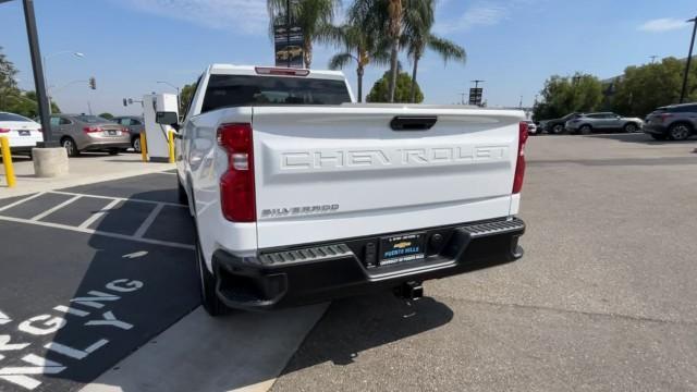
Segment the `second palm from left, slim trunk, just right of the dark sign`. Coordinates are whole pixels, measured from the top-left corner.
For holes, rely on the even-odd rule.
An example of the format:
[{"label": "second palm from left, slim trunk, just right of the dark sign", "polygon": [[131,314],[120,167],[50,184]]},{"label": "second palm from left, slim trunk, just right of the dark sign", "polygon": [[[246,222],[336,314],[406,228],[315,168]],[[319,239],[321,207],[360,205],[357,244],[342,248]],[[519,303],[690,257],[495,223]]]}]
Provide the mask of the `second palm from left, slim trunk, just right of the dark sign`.
[{"label": "second palm from left, slim trunk, just right of the dark sign", "polygon": [[390,58],[387,41],[381,38],[379,30],[367,26],[374,21],[368,2],[355,1],[348,10],[350,22],[323,34],[323,38],[329,38],[343,49],[330,59],[330,69],[339,70],[352,61],[356,62],[358,102],[363,101],[363,76],[366,66],[369,63],[387,64]]}]

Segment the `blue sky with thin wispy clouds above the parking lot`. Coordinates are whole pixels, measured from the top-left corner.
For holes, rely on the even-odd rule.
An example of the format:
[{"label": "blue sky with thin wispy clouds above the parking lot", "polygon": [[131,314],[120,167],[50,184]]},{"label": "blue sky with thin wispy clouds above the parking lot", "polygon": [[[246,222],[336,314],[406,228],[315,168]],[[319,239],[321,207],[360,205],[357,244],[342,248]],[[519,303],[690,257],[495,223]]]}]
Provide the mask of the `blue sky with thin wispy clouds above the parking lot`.
[{"label": "blue sky with thin wispy clouds above the parking lot", "polygon": [[[121,99],[173,91],[157,84],[193,82],[212,62],[269,64],[266,0],[35,0],[49,85],[63,111],[137,113]],[[344,0],[347,4],[348,1]],[[531,105],[551,74],[602,78],[650,56],[687,56],[695,0],[440,0],[436,32],[467,50],[466,64],[429,53],[419,66],[428,103],[454,103],[474,78],[487,81],[490,106]],[[0,4],[0,46],[34,89],[21,1]],[[314,68],[334,51],[318,47]],[[402,60],[408,64],[408,60]],[[355,70],[344,70],[355,89]],[[370,68],[366,93],[384,70]],[[72,81],[97,78],[97,90]]]}]

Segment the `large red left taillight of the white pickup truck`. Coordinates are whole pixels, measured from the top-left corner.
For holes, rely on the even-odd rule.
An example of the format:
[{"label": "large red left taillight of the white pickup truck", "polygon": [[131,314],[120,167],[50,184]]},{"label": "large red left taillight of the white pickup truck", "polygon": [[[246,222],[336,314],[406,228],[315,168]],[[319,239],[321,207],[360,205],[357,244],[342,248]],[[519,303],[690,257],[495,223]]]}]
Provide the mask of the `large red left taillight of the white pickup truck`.
[{"label": "large red left taillight of the white pickup truck", "polygon": [[254,144],[250,124],[222,124],[218,144],[228,151],[228,171],[220,177],[220,205],[229,221],[257,220],[254,189]]}]

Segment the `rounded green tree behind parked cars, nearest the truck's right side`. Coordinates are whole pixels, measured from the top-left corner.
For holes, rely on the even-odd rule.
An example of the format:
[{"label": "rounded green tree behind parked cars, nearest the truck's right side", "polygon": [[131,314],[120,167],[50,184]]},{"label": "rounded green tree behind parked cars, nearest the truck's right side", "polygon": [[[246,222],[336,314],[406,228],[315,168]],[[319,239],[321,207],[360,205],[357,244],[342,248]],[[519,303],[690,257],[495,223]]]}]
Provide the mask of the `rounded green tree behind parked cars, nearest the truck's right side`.
[{"label": "rounded green tree behind parked cars, nearest the truck's right side", "polygon": [[545,82],[541,100],[534,108],[536,120],[557,119],[572,112],[592,112],[602,102],[602,83],[598,77],[576,73],[553,75]]}]

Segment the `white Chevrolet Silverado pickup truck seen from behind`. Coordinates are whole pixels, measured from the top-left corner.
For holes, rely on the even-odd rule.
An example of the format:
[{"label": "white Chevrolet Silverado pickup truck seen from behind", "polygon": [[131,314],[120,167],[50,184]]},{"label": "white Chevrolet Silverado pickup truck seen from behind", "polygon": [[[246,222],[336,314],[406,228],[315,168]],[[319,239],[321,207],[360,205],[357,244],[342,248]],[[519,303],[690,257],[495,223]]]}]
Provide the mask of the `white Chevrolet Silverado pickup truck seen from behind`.
[{"label": "white Chevrolet Silverado pickup truck seen from behind", "polygon": [[523,256],[521,111],[356,105],[343,74],[211,65],[179,124],[203,302],[270,309]]}]

